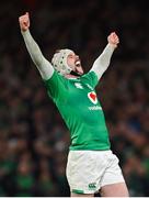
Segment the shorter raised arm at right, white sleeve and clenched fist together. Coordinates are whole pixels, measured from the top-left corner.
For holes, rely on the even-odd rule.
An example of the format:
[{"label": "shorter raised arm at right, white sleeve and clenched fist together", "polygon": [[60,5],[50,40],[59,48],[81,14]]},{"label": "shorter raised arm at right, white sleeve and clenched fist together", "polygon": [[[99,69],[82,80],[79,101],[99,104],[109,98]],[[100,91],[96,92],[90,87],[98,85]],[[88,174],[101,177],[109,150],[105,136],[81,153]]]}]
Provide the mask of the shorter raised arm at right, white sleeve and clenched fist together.
[{"label": "shorter raised arm at right, white sleeve and clenched fist together", "polygon": [[119,43],[119,38],[115,32],[108,35],[107,41],[108,43],[106,47],[104,48],[103,53],[95,59],[91,68],[91,70],[93,70],[96,74],[99,79],[102,77],[103,73],[107,69],[112,54],[114,50],[117,47],[117,44]]}]

